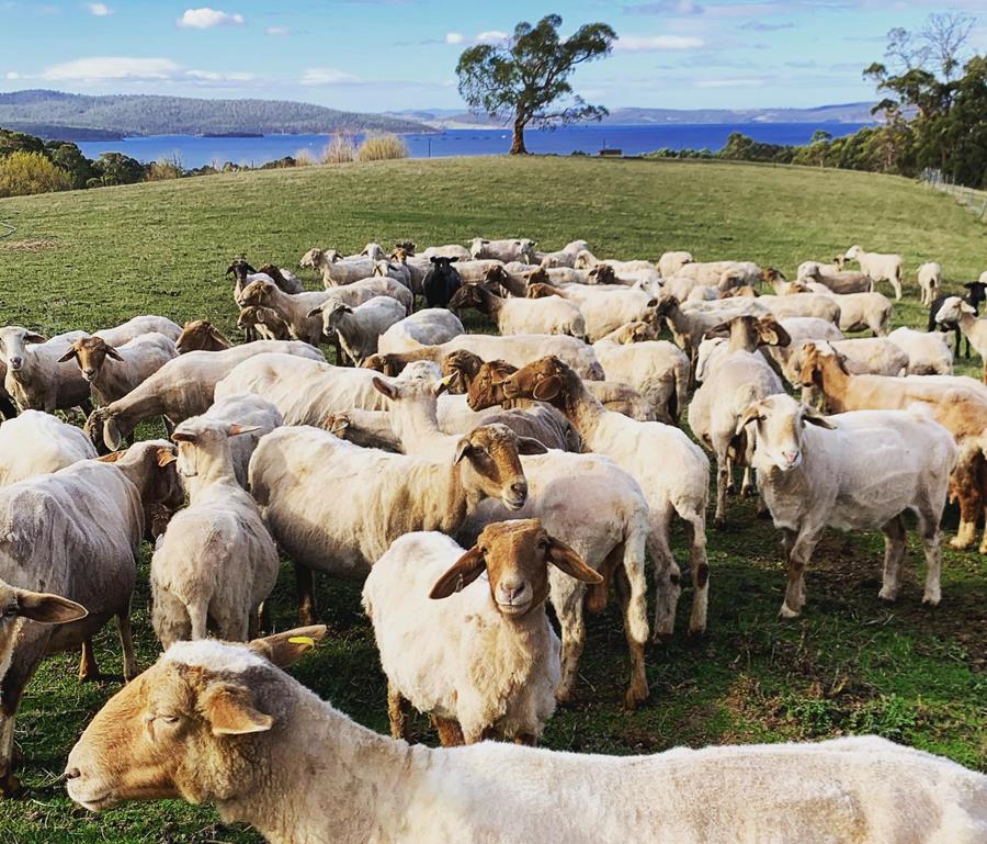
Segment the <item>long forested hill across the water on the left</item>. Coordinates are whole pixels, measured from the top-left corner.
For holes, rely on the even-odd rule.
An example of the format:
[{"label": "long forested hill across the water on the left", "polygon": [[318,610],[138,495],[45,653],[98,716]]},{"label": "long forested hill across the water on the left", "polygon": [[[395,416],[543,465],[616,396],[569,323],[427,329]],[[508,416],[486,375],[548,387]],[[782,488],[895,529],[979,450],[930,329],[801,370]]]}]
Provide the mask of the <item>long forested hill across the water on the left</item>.
[{"label": "long forested hill across the water on the left", "polygon": [[337,111],[282,100],[195,100],[186,97],[114,94],[87,97],[60,91],[0,93],[0,126],[101,130],[120,135],[309,134],[422,132],[417,121]]}]

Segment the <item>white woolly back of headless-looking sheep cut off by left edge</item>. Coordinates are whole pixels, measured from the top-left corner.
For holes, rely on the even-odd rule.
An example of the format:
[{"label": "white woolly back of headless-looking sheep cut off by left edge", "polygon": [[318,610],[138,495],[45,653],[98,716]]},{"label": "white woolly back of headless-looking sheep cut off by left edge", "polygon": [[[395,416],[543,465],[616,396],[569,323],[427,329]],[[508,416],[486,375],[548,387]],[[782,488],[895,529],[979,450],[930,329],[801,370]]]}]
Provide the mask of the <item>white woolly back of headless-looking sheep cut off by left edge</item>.
[{"label": "white woolly back of headless-looking sheep cut off by left edge", "polygon": [[0,425],[0,486],[97,457],[89,438],[41,410],[24,410]]}]

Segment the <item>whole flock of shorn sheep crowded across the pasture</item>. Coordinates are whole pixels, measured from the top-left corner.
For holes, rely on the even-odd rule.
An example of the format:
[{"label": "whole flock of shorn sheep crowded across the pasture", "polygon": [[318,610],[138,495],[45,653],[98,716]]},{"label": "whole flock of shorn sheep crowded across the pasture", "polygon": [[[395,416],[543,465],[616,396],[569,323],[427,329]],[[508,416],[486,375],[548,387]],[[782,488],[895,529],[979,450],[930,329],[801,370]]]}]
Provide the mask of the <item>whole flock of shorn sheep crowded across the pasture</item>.
[{"label": "whole flock of shorn sheep crowded across the pasture", "polygon": [[[987,386],[952,374],[942,331],[888,333],[893,303],[875,288],[900,297],[899,256],[854,246],[789,281],[688,252],[653,263],[535,246],[311,249],[300,265],[318,292],[238,259],[240,345],[159,316],[52,338],[0,329],[0,792],[18,788],[14,717],[37,665],[81,648],[80,677],[98,676],[92,635],[115,618],[134,682],[65,774],[95,811],[209,801],[285,844],[987,841],[987,777],[875,738],[623,759],[484,742],[537,743],[611,586],[625,704],[648,697],[646,643],[672,634],[681,593],[677,524],[688,629],[705,630],[706,452],[716,526],[742,468],[741,492],[781,532],[786,618],[827,527],[884,532],[880,597],[894,600],[908,510],[922,600],[939,604],[948,498],[955,548],[987,506]],[[941,275],[918,273],[933,327],[987,359],[987,273],[963,297],[943,295]],[[466,333],[470,310],[498,334]],[[327,363],[324,342],[355,365]],[[76,407],[82,430],[54,415]],[[135,442],[159,416],[170,439]],[[166,653],[138,677],[144,540]],[[280,552],[305,627],[258,639]],[[326,634],[316,572],[364,581],[390,739],[280,671]],[[442,745],[476,746],[397,741],[412,708]]]}]

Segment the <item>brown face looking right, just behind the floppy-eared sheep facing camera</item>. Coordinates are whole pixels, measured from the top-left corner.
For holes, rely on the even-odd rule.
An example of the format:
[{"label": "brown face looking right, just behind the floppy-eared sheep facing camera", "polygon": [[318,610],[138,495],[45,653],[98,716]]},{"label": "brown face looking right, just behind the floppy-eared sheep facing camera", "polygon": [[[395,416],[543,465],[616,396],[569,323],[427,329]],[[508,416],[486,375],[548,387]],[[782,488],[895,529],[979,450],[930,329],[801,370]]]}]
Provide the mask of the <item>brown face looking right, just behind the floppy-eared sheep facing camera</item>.
[{"label": "brown face looking right, just behind the floppy-eared sheep facing camera", "polygon": [[520,510],[527,500],[527,479],[519,454],[546,451],[537,440],[519,437],[504,425],[481,425],[458,441],[455,463],[463,464],[464,484],[469,489]]}]

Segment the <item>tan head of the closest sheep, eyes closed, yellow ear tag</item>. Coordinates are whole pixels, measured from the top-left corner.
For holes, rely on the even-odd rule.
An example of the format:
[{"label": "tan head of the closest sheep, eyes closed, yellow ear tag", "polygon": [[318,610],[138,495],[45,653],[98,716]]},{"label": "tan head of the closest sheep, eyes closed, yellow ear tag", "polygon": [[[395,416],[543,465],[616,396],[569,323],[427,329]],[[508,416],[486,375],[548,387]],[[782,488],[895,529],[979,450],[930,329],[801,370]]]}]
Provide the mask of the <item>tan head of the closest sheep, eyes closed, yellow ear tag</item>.
[{"label": "tan head of the closest sheep, eyes closed, yellow ear tag", "polygon": [[86,728],[65,772],[69,797],[99,812],[126,800],[225,800],[249,788],[264,773],[258,733],[288,717],[274,666],[325,634],[314,627],[249,645],[172,645]]}]

